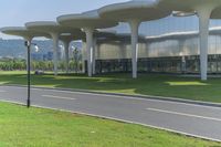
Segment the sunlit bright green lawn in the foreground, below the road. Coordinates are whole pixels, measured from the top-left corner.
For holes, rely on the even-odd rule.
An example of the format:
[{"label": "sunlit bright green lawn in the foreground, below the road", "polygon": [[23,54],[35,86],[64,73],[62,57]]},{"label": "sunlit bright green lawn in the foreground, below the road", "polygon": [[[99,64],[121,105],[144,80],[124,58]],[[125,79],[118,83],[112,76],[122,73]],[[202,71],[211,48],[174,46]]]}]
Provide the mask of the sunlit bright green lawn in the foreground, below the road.
[{"label": "sunlit bright green lawn in the foreground, below the road", "polygon": [[139,125],[0,103],[0,147],[221,147]]}]

